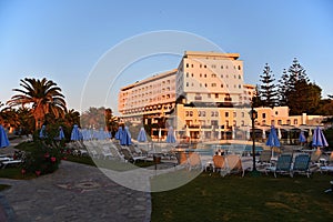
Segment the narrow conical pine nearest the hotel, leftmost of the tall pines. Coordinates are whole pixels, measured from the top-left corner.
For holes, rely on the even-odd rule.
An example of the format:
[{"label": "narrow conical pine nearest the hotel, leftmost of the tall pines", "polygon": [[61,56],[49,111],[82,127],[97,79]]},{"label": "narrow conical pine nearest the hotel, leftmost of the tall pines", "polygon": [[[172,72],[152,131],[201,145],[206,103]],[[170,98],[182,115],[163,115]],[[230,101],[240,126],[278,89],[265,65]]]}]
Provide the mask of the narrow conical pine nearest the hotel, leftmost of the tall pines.
[{"label": "narrow conical pine nearest the hotel, leftmost of the tall pines", "polygon": [[274,74],[270,65],[266,63],[263,70],[263,73],[260,75],[260,95],[263,107],[273,108],[278,104],[278,91],[274,84]]}]

